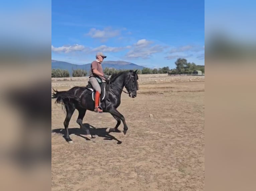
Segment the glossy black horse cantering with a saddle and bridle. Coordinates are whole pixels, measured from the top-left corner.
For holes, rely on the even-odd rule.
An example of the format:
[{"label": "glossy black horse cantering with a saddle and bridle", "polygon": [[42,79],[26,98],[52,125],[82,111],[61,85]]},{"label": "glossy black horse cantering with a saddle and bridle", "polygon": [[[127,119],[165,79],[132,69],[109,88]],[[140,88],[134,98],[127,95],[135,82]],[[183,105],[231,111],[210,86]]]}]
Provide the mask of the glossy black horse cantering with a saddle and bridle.
[{"label": "glossy black horse cantering with a saddle and bridle", "polygon": [[[137,90],[138,90],[138,74],[136,71],[125,71],[120,72],[118,74],[114,74],[111,76],[110,80],[107,81],[106,90],[102,91],[102,95],[104,95],[104,99],[101,100],[101,107],[103,112],[109,112],[111,115],[117,120],[117,124],[115,128],[108,128],[108,132],[120,132],[117,130],[118,126],[121,124],[121,120],[124,124],[124,134],[126,134],[128,127],[125,122],[124,116],[117,110],[117,107],[121,103],[121,94],[123,88],[125,87],[127,94],[130,97],[136,97]],[[86,110],[94,111],[94,99],[93,94],[95,90],[90,89],[90,84],[87,87],[73,87],[68,91],[61,91],[58,92],[57,90],[53,89],[52,98],[56,98],[55,103],[61,103],[62,106],[65,106],[66,109],[66,118],[64,121],[64,127],[66,129],[66,140],[69,143],[72,143],[72,139],[69,136],[69,122],[71,116],[73,115],[75,109],[79,111],[79,115],[77,118],[77,123],[80,125],[81,128],[85,129],[86,134],[92,138],[89,129],[83,125],[83,118],[85,116]]]}]

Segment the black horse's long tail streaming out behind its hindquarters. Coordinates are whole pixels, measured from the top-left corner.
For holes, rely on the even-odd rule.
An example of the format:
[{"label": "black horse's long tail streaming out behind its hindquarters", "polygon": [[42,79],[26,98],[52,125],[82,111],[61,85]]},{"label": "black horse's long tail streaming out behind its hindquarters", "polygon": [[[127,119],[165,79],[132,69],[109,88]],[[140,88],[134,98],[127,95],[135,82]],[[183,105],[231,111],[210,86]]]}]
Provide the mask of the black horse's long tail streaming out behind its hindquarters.
[{"label": "black horse's long tail streaming out behind its hindquarters", "polygon": [[69,105],[69,104],[74,104],[74,103],[80,103],[80,98],[72,95],[71,93],[69,93],[68,91],[57,91],[57,90],[53,90],[52,93],[52,99],[56,98],[55,103],[60,103],[60,104],[64,104],[64,105]]}]

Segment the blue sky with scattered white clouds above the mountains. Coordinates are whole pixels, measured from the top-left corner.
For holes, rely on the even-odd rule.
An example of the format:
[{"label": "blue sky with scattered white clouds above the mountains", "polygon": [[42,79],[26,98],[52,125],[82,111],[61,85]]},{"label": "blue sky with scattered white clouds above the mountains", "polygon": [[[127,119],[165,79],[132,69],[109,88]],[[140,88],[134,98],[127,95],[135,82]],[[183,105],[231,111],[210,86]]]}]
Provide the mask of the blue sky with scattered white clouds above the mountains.
[{"label": "blue sky with scattered white clouds above the mountains", "polygon": [[104,61],[148,68],[175,68],[178,58],[204,65],[203,0],[52,1],[53,60],[88,64]]}]

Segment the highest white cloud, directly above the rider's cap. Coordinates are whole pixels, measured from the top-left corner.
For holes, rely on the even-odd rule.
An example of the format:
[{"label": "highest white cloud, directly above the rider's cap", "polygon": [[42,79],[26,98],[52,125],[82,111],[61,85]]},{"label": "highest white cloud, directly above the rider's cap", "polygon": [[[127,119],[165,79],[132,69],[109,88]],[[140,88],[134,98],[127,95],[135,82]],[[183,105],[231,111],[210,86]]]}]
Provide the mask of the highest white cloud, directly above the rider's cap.
[{"label": "highest white cloud, directly above the rider's cap", "polygon": [[113,30],[111,27],[107,27],[107,28],[104,28],[103,30],[92,28],[86,34],[86,36],[90,36],[92,38],[97,38],[97,39],[101,39],[102,41],[106,41],[107,39],[119,36],[120,34],[121,34],[121,30]]}]

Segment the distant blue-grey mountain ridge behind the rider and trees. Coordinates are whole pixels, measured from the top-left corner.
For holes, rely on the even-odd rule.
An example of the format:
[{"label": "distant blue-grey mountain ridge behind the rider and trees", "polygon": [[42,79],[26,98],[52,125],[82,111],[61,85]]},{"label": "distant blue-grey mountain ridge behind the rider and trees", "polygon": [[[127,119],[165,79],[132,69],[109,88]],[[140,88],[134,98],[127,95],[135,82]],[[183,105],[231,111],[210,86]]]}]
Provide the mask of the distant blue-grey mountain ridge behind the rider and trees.
[{"label": "distant blue-grey mountain ridge behind the rider and trees", "polygon": [[[62,70],[68,70],[70,73],[70,76],[72,76],[72,69],[82,69],[87,71],[87,75],[89,75],[90,72],[90,67],[91,63],[89,64],[83,64],[83,65],[78,65],[78,64],[71,64],[68,62],[62,62],[62,61],[57,61],[57,60],[51,60],[51,69],[62,69]],[[102,68],[114,68],[117,70],[142,70],[143,66],[139,66],[136,64],[133,64],[131,62],[125,62],[125,61],[104,61],[102,63]]]}]

